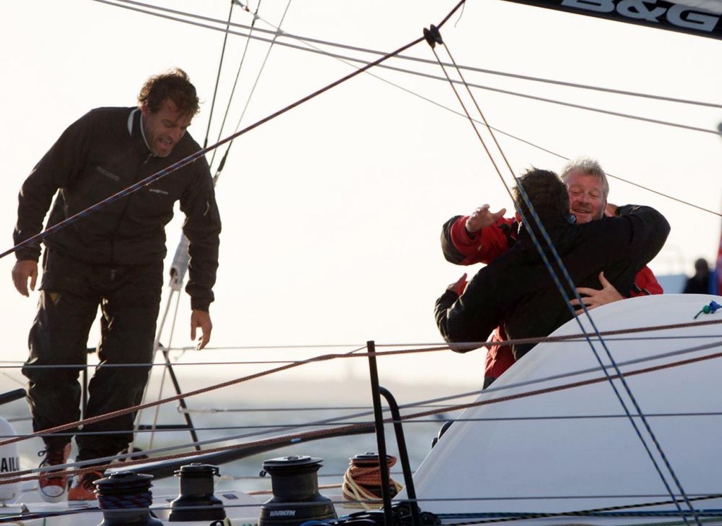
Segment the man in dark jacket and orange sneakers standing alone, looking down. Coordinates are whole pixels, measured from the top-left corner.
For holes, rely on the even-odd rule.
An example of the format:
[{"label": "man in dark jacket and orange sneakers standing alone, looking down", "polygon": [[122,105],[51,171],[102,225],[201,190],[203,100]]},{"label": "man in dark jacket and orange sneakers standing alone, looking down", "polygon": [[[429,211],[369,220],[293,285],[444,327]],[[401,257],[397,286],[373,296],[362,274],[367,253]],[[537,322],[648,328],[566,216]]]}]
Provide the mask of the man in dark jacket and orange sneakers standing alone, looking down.
[{"label": "man in dark jacket and orange sneakers standing alone, looking down", "polygon": [[[186,133],[198,111],[196,88],[185,71],[174,69],[147,80],[136,108],[97,108],[79,118],[23,183],[14,242],[43,229],[53,196],[48,226],[198,152],[200,146]],[[176,201],[186,214],[191,338],[200,330],[199,349],[208,343],[221,223],[209,166],[201,157],[45,237],[38,314],[22,369],[29,380],[34,431],[79,420],[78,377],[98,307],[100,365],[90,380],[85,417],[142,401],[160,308],[165,225]],[[38,279],[40,244],[22,247],[16,257],[13,284],[29,296],[28,284],[34,290]],[[133,420],[131,413],[85,425],[76,437],[77,460],[113,456],[128,447]],[[66,463],[69,432],[76,431],[43,437],[40,466]],[[99,469],[77,477],[68,499],[95,499],[92,482],[101,476]],[[58,470],[44,473],[39,486],[43,499],[54,502],[64,498],[68,485]]]}]

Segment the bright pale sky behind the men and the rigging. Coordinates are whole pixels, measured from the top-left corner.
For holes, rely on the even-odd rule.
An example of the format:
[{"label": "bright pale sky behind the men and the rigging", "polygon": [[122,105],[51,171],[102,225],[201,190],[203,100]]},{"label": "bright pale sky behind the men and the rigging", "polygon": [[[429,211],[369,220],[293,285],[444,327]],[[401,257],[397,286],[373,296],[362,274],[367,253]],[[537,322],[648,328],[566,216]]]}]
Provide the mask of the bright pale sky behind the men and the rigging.
[{"label": "bright pale sky behind the men and the rigging", "polygon": [[[219,0],[152,3],[216,19],[225,19],[229,9],[229,2]],[[392,51],[420,36],[423,27],[438,24],[455,4],[292,0],[282,27],[296,35]],[[286,5],[285,0],[264,0],[258,14],[277,24]],[[238,8],[233,19],[251,22]],[[269,28],[261,21],[258,27]],[[500,0],[469,2],[443,27],[442,35],[456,62],[467,66],[722,102],[718,40]],[[0,238],[1,249],[12,246],[17,190],[61,131],[91,108],[134,105],[147,76],[173,66],[188,72],[205,101],[191,126],[191,134],[202,143],[222,38],[220,32],[92,0],[2,2],[0,94],[5,103],[0,144],[6,192],[0,196],[0,224],[6,234]],[[244,45],[238,36],[228,41],[211,142],[219,133]],[[223,136],[238,122],[267,47],[251,43]],[[408,53],[433,58],[425,43]],[[447,60],[443,50],[439,53]],[[407,61],[393,65],[442,75],[438,66]],[[274,46],[244,125],[349,71],[334,58]],[[375,74],[460,110],[445,82],[380,69]],[[719,108],[465,75],[477,84],[708,130],[722,120]],[[613,175],[706,209],[720,209],[719,136],[481,89],[475,89],[474,96],[495,128],[565,157],[596,157]],[[558,171],[563,164],[559,157],[498,137],[515,172],[531,165]],[[718,216],[627,183],[612,180],[611,185],[610,201],[651,204],[668,217],[672,233],[651,265],[654,271],[690,272],[695,258],[716,258]],[[441,224],[485,202],[510,208],[468,121],[367,75],[237,139],[217,191],[223,233],[217,301],[211,310],[212,346],[439,342],[434,301],[464,271],[443,260]],[[170,255],[179,236],[180,219],[168,227]],[[0,260],[3,359],[19,361],[27,352],[37,293],[26,299],[14,291],[13,263],[13,256]],[[188,309],[183,294],[175,345],[190,343]],[[267,359],[280,356],[276,353],[208,351],[185,356],[184,361]],[[412,360],[385,366],[382,383],[384,374],[474,384],[482,377],[479,351],[465,356],[447,351]],[[356,367],[362,371],[365,366]]]}]

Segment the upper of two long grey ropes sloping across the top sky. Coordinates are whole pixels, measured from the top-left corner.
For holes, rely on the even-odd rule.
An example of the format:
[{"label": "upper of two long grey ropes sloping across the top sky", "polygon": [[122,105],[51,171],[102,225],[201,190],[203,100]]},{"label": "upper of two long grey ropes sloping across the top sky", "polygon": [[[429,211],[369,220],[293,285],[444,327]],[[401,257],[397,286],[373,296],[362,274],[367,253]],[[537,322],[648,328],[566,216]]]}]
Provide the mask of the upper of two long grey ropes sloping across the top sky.
[{"label": "upper of two long grey ropes sloping across the top sky", "polygon": [[[100,1],[100,0],[95,0],[95,1]],[[183,16],[183,17],[190,17],[190,18],[194,18],[194,19],[205,20],[206,22],[212,22],[212,23],[215,23],[215,24],[218,24],[218,25],[222,25],[222,23],[223,23],[222,20],[215,19],[215,18],[212,18],[212,17],[204,17],[204,16],[202,16],[202,15],[193,14],[193,13],[191,13],[191,12],[182,12],[182,11],[178,11],[178,10],[175,10],[175,9],[169,9],[169,8],[161,7],[161,6],[153,6],[153,5],[151,5],[151,4],[144,4],[144,3],[139,2],[139,1],[132,1],[132,0],[114,0],[114,1],[120,2],[120,3],[123,3],[123,4],[134,4],[134,5],[137,5],[137,6],[144,6],[144,7],[147,7],[147,8],[156,9],[157,11],[162,11],[162,12],[168,12],[168,13],[178,14],[178,15],[181,15],[181,16]],[[110,4],[110,2],[108,2],[108,1],[104,1],[103,3],[105,3],[105,4]],[[122,6],[122,5],[119,5],[119,4],[110,4],[110,5],[113,5],[113,6],[116,6],[116,7],[121,7],[122,9],[131,9],[131,8],[127,7],[127,6]],[[242,4],[240,4],[240,3],[239,3],[239,5],[242,6]],[[142,11],[141,9],[131,9],[131,10],[139,11],[139,12],[142,12],[142,13],[144,13],[144,14],[151,14],[151,15],[153,15],[153,16],[162,17],[162,15],[160,15],[160,14],[156,14],[156,13],[154,13],[154,12],[145,12],[145,11]],[[164,17],[164,18],[170,18],[170,17]],[[213,26],[208,26],[208,25],[196,24],[195,22],[191,22],[190,20],[186,20],[186,19],[180,19],[180,18],[170,18],[170,19],[172,19],[174,22],[183,22],[183,23],[190,24],[190,25],[199,25],[200,27],[203,27],[204,29],[212,29],[212,30],[216,30],[216,31],[223,31],[223,30],[222,30],[221,28],[219,28],[219,27],[213,27]],[[263,20],[263,19],[261,19],[261,20]],[[269,24],[269,26],[274,27],[272,24],[270,24],[270,23],[267,22],[266,20],[263,20],[263,21],[266,22],[266,24]],[[239,28],[244,29],[244,30],[250,29],[250,27],[249,27],[248,25],[243,25],[243,24],[238,24],[238,23],[233,23],[233,22],[231,22],[230,25],[231,25],[232,27],[239,27]],[[303,37],[303,36],[300,36],[300,35],[295,35],[295,34],[293,34],[293,33],[287,33],[287,32],[283,32],[283,31],[279,31],[279,30],[264,30],[264,29],[262,29],[262,28],[256,28],[256,31],[257,31],[257,32],[263,32],[263,33],[266,33],[266,34],[268,34],[268,35],[274,35],[274,37],[279,37],[279,36],[280,36],[280,37],[292,38],[292,39],[295,39],[295,40],[305,41],[306,43],[316,43],[316,44],[320,44],[320,45],[328,45],[329,47],[341,48],[341,49],[345,49],[345,50],[347,50],[347,51],[359,51],[360,53],[368,53],[368,54],[370,54],[370,55],[377,55],[377,56],[382,56],[382,55],[384,54],[383,51],[378,51],[378,50],[374,50],[374,49],[370,49],[370,48],[361,48],[361,47],[359,47],[359,46],[342,44],[342,43],[336,43],[336,42],[331,42],[331,41],[329,41],[329,40],[321,40],[321,39],[318,39],[318,38]],[[232,32],[232,31],[229,31],[229,30],[226,30],[225,32],[231,32],[232,34],[235,34],[235,35],[243,35],[242,33]],[[269,42],[269,41],[270,41],[270,40],[264,39],[264,38],[251,37],[251,35],[243,35],[243,36],[248,36],[249,38],[254,38],[254,39],[258,39],[258,40],[264,40],[265,42]],[[282,42],[279,42],[279,45],[288,45],[289,47],[293,47],[293,48],[296,48],[296,49],[300,49],[301,51],[310,51],[308,48],[298,48],[298,47],[296,47],[296,46],[292,46],[292,45],[289,45],[289,44],[287,44],[287,43],[282,43]],[[313,48],[313,49],[315,49],[316,51],[321,51],[321,50],[319,50],[318,48]],[[325,53],[325,52],[321,51],[321,53]],[[430,60],[430,59],[428,59],[428,58],[420,58],[420,57],[414,57],[414,56],[403,55],[403,54],[399,54],[398,56],[396,56],[396,58],[399,58],[399,59],[405,60],[405,61],[425,63],[425,64],[428,64],[428,65],[435,65],[435,64],[436,64],[434,61],[432,61],[432,60]],[[444,64],[445,66],[451,66],[450,63],[443,63],[443,64]],[[703,102],[703,101],[682,99],[682,98],[677,98],[677,97],[667,97],[667,96],[664,96],[664,95],[651,95],[651,94],[645,94],[645,93],[640,93],[640,92],[630,92],[630,91],[626,91],[626,90],[623,90],[623,89],[614,89],[614,88],[605,88],[605,87],[599,87],[599,86],[591,86],[591,85],[589,85],[589,84],[578,84],[578,83],[575,83],[575,82],[565,82],[565,81],[559,81],[559,80],[554,80],[554,79],[546,79],[546,78],[544,78],[544,77],[536,77],[536,76],[530,76],[530,75],[509,73],[508,71],[495,71],[495,70],[492,70],[492,69],[477,68],[477,67],[474,67],[474,66],[463,66],[463,65],[459,65],[458,67],[461,68],[461,69],[467,70],[467,71],[473,71],[473,72],[475,72],[475,73],[489,74],[489,75],[495,75],[495,76],[505,76],[505,77],[508,77],[508,78],[511,78],[511,79],[529,80],[529,81],[531,81],[531,82],[540,82],[540,83],[542,83],[542,84],[552,84],[552,85],[563,86],[563,87],[573,87],[573,88],[578,88],[578,89],[589,89],[589,90],[592,90],[592,91],[610,93],[610,94],[612,94],[612,95],[625,95],[625,96],[629,96],[629,97],[640,97],[640,98],[651,99],[651,100],[659,100],[659,101],[662,101],[662,102],[675,102],[675,103],[679,103],[679,104],[697,105],[697,106],[703,106],[703,107],[707,107],[707,108],[722,108],[722,104],[719,104],[719,103],[716,103],[716,102]]]}]

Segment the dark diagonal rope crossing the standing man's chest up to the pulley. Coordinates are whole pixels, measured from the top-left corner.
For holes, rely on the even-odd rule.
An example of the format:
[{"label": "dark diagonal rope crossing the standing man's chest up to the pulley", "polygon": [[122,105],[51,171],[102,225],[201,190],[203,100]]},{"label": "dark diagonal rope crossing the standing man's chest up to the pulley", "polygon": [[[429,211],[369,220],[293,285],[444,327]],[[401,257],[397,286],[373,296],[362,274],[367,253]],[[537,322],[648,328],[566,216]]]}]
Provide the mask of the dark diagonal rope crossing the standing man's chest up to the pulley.
[{"label": "dark diagonal rope crossing the standing man's chest up to the pulley", "polygon": [[[105,1],[105,0],[94,0],[94,1]],[[464,0],[462,0],[462,3],[463,3],[463,1]],[[457,4],[457,6],[452,9],[452,12],[456,11],[456,9],[458,9],[459,5],[461,5],[461,4]],[[257,120],[255,123],[251,124],[250,126],[246,126],[245,128],[243,128],[243,130],[237,131],[236,133],[233,133],[232,135],[227,136],[222,141],[219,141],[216,144],[212,144],[212,146],[202,148],[198,152],[188,155],[188,157],[185,157],[185,158],[181,159],[180,161],[173,163],[173,165],[170,165],[169,167],[164,168],[163,170],[155,172],[155,174],[149,175],[145,179],[139,180],[137,183],[130,185],[128,188],[125,188],[123,190],[118,191],[117,193],[114,193],[112,196],[109,196],[108,198],[103,199],[103,201],[95,203],[95,205],[92,205],[85,210],[79,211],[77,214],[74,214],[74,215],[70,216],[69,218],[64,219],[63,221],[58,222],[51,227],[48,227],[47,229],[45,229],[45,231],[40,232],[39,234],[35,234],[31,237],[28,237],[27,240],[18,243],[17,245],[10,248],[9,250],[4,251],[3,253],[0,253],[0,259],[4,258],[6,255],[14,253],[16,250],[19,250],[23,247],[27,247],[27,245],[31,245],[32,243],[39,243],[40,240],[45,239],[45,237],[48,237],[48,235],[52,234],[53,232],[56,232],[58,229],[64,228],[71,223],[77,222],[78,219],[82,219],[84,216],[87,216],[88,214],[92,214],[93,212],[97,211],[98,209],[101,209],[110,203],[114,203],[115,201],[118,201],[118,199],[120,199],[120,198],[123,198],[125,196],[128,196],[131,193],[134,193],[137,190],[139,190],[140,188],[143,188],[144,186],[154,183],[156,180],[160,179],[161,177],[165,177],[166,175],[170,174],[171,172],[175,172],[175,170],[178,170],[179,168],[184,167],[184,166],[190,164],[191,162],[194,162],[199,157],[202,157],[206,153],[212,151],[213,149],[216,149],[219,146],[222,146],[222,144],[226,144],[227,142],[232,141],[236,137],[239,137],[239,136],[243,135],[244,133],[248,133],[248,131],[258,128],[258,126],[261,126],[261,124],[267,123],[267,122],[269,122],[269,120],[273,120],[274,118],[277,118],[279,115],[282,115],[282,114],[286,113],[287,111],[290,111],[293,108],[296,108],[297,106],[302,105],[304,102],[308,102],[308,100],[318,97],[318,95],[321,95],[322,93],[329,91],[329,89],[332,89],[332,88],[338,86],[339,84],[342,84],[342,83],[346,82],[347,80],[352,79],[353,77],[363,73],[367,69],[370,69],[374,66],[378,66],[378,64],[383,63],[383,61],[388,60],[388,58],[391,58],[391,57],[395,56],[396,54],[401,53],[401,51],[412,48],[412,46],[417,45],[419,42],[422,42],[422,40],[424,40],[423,37],[419,37],[416,40],[412,40],[412,42],[402,45],[396,51],[392,51],[391,53],[388,53],[386,56],[378,58],[376,61],[373,61],[373,62],[367,64],[367,66],[364,66],[361,69],[357,69],[356,71],[353,71],[352,73],[349,73],[345,76],[342,76],[342,78],[337,79],[334,82],[331,82],[331,84],[326,84],[326,86],[322,87],[321,89],[317,89],[315,92],[310,93],[310,95],[306,95],[305,97],[302,97],[299,100],[292,102],[290,105],[287,105],[284,108],[277,110],[274,113],[271,113],[271,115],[267,115],[266,117],[262,118],[261,120]]]}]

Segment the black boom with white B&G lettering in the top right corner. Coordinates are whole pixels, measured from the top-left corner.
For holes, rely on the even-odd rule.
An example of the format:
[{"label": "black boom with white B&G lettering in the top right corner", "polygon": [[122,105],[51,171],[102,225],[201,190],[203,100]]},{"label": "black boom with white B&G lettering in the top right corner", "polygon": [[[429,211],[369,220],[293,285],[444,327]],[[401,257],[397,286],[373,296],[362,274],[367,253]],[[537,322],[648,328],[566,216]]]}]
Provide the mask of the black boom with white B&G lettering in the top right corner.
[{"label": "black boom with white B&G lettering in the top right corner", "polygon": [[722,0],[507,0],[618,22],[722,38]]}]

